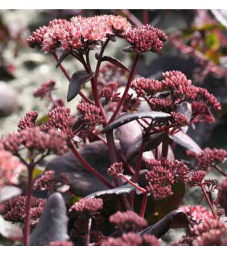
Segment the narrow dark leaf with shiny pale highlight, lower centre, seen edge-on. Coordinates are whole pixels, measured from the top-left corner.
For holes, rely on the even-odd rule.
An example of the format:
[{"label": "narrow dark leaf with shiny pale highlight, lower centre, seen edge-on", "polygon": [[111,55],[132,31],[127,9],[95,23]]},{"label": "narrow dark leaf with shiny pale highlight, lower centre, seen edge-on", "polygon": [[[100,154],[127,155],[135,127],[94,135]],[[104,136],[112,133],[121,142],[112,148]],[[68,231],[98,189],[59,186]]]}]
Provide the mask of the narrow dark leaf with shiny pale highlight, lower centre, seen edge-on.
[{"label": "narrow dark leaf with shiny pale highlight, lower centre, seen edge-on", "polygon": [[95,198],[95,197],[102,197],[106,195],[116,195],[119,196],[120,194],[129,194],[132,190],[135,190],[131,184],[122,185],[120,187],[115,187],[112,190],[102,190],[95,192],[93,194],[89,194],[87,197]]}]

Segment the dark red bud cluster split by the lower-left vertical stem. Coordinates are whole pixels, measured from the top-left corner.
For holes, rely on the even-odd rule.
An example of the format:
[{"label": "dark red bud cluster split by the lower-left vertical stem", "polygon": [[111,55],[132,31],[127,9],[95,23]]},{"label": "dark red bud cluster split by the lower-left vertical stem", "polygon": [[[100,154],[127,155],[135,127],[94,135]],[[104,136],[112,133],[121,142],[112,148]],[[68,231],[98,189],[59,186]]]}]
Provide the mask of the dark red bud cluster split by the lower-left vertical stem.
[{"label": "dark red bud cluster split by the lower-left vertical stem", "polygon": [[[5,221],[11,221],[13,223],[25,223],[26,198],[27,197],[18,196],[5,201],[5,207],[3,212],[3,217]],[[41,217],[46,202],[46,199],[32,197],[30,210],[31,226],[34,227],[36,224],[38,224],[39,218]]]}]

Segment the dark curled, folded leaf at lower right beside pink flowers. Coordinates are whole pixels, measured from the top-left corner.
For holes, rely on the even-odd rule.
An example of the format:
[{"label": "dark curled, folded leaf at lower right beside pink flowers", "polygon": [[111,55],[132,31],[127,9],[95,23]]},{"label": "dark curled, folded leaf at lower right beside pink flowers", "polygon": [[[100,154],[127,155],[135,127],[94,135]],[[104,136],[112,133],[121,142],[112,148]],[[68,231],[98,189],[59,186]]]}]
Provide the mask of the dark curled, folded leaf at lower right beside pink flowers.
[{"label": "dark curled, folded leaf at lower right beside pink flowers", "polygon": [[189,218],[184,211],[175,210],[162,218],[161,221],[145,228],[140,234],[153,234],[162,237],[170,228],[189,227]]}]

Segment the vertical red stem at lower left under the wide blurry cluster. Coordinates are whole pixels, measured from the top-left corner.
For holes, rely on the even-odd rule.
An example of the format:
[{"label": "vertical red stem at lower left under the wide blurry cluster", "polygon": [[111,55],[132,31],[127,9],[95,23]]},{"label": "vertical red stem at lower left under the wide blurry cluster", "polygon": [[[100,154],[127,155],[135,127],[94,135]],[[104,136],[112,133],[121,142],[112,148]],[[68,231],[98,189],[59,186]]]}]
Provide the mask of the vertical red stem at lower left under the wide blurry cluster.
[{"label": "vertical red stem at lower left under the wide blurry cluster", "polygon": [[30,236],[30,224],[31,224],[31,204],[32,204],[32,173],[33,165],[28,165],[28,188],[27,188],[27,200],[26,200],[26,217],[25,217],[25,237],[24,244],[25,246],[29,245],[29,236]]}]

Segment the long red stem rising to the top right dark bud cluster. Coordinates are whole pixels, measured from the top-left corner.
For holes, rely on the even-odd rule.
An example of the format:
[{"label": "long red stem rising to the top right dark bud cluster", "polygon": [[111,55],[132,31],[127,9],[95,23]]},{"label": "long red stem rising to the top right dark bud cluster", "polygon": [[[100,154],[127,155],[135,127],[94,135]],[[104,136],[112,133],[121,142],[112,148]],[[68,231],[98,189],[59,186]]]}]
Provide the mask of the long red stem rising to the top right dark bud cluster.
[{"label": "long red stem rising to the top right dark bud cluster", "polygon": [[129,88],[130,88],[130,86],[131,86],[132,79],[133,79],[133,76],[134,76],[134,74],[135,74],[135,69],[136,69],[136,66],[137,66],[138,62],[139,62],[139,55],[136,55],[136,56],[135,56],[135,60],[134,60],[133,65],[132,65],[131,72],[130,72],[130,74],[129,74],[128,83],[127,83],[127,85],[126,85],[126,87],[125,87],[125,92],[123,93],[122,99],[120,100],[118,106],[117,106],[116,109],[115,109],[115,112],[112,114],[112,117],[111,117],[111,119],[108,121],[108,123],[112,123],[112,121],[115,120],[115,117],[118,115],[119,110],[121,109],[121,107],[122,107],[122,105],[123,105],[123,103],[124,103],[124,101],[125,101],[125,98],[126,98],[126,96],[128,95]]}]

